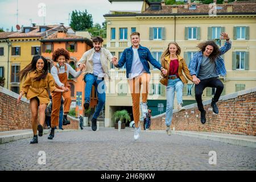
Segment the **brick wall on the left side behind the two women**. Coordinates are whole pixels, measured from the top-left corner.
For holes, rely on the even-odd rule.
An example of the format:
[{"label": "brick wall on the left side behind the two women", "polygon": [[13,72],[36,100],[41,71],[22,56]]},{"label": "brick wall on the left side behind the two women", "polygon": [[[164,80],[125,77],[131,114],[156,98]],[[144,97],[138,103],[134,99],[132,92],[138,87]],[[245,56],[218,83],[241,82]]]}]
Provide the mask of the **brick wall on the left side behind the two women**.
[{"label": "brick wall on the left side behind the two women", "polygon": [[[32,129],[30,103],[19,95],[0,86],[0,131]],[[68,116],[70,125],[63,129],[79,129],[79,119]],[[46,125],[45,125],[46,126]]]}]

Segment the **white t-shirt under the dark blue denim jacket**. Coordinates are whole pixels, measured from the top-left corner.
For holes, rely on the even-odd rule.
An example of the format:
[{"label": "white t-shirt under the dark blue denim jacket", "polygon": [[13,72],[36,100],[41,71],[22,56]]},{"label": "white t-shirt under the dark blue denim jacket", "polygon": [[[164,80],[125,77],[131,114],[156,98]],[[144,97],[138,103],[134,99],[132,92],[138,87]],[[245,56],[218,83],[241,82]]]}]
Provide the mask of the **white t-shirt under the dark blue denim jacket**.
[{"label": "white t-shirt under the dark blue denim jacket", "polygon": [[133,48],[133,64],[131,64],[131,73],[129,73],[129,79],[137,77],[145,72],[146,71],[143,67],[143,64],[139,59],[138,48]]}]

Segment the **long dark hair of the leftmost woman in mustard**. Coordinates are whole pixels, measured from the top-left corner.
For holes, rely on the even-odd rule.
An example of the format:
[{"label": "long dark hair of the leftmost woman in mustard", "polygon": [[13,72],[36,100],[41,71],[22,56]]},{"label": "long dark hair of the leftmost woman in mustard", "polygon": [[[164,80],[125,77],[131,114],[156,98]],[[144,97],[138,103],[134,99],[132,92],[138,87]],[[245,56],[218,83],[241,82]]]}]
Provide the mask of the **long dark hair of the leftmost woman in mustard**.
[{"label": "long dark hair of the leftmost woman in mustard", "polygon": [[20,81],[24,79],[26,79],[27,77],[27,74],[32,72],[32,71],[35,71],[36,70],[36,63],[38,63],[38,60],[39,59],[42,59],[44,61],[44,67],[43,67],[43,70],[42,70],[42,74],[40,74],[39,76],[33,78],[34,80],[36,81],[39,81],[41,79],[44,79],[46,78],[47,74],[48,74],[48,64],[47,64],[47,60],[46,58],[44,58],[43,56],[40,56],[40,55],[35,55],[31,61],[30,64],[28,64],[24,69],[22,69],[22,71],[20,71],[18,74],[20,76]]}]

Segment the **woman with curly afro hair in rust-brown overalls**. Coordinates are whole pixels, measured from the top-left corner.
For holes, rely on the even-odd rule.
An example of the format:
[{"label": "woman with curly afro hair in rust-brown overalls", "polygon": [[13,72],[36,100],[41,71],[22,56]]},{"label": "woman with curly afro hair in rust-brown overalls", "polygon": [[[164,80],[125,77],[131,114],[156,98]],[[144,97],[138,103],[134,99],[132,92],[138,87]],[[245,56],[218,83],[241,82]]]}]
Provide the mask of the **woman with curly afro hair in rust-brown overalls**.
[{"label": "woman with curly afro hair in rust-brown overalls", "polygon": [[[56,65],[51,68],[51,74],[55,80],[56,88],[63,89],[66,92],[62,94],[64,98],[64,116],[63,125],[69,125],[67,119],[69,107],[71,105],[71,90],[68,84],[68,75],[71,73],[73,77],[77,78],[81,75],[84,65],[81,65],[80,71],[75,71],[71,65],[65,63],[70,59],[69,52],[63,48],[57,49],[53,52],[52,60]],[[61,104],[61,93],[52,93],[52,114],[51,114],[51,133],[48,139],[53,139],[55,127],[59,125],[59,113]]]}]

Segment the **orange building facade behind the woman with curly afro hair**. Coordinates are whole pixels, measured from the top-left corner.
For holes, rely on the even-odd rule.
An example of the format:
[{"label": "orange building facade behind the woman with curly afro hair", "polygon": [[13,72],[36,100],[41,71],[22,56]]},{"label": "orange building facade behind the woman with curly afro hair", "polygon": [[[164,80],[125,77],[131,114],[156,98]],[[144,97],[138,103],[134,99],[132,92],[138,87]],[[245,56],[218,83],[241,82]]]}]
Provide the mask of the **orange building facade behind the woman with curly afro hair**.
[{"label": "orange building facade behind the woman with curly afro hair", "polygon": [[[66,28],[60,28],[54,34],[47,36],[46,38],[40,40],[42,47],[42,55],[48,60],[49,72],[51,68],[55,65],[52,60],[52,53],[58,48],[66,49],[70,54],[70,59],[68,64],[71,65],[76,71],[78,68],[75,68],[77,61],[80,60],[83,53],[91,49],[92,41],[83,38],[81,36],[76,36],[75,34],[68,34]],[[83,81],[83,75],[81,74],[77,78],[73,78],[69,74],[68,82],[71,85],[71,109],[76,109],[76,116],[79,117],[80,114],[84,115],[84,88],[85,82]],[[95,94],[94,88],[92,89],[90,107],[93,108],[97,105],[97,96]]]}]

